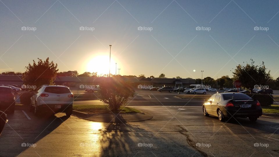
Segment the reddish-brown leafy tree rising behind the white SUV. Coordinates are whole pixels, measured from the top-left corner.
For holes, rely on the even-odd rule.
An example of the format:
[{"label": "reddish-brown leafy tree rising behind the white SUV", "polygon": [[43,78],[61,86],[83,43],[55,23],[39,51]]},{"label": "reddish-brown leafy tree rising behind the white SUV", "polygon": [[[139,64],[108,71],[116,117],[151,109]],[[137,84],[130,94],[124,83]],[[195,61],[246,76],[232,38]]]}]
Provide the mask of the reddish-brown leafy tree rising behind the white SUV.
[{"label": "reddish-brown leafy tree rising behind the white SUV", "polygon": [[26,85],[35,85],[37,88],[44,84],[52,85],[58,72],[57,64],[53,61],[49,62],[49,57],[45,61],[38,58],[37,64],[33,60],[33,64],[29,63],[25,68],[23,82]]}]

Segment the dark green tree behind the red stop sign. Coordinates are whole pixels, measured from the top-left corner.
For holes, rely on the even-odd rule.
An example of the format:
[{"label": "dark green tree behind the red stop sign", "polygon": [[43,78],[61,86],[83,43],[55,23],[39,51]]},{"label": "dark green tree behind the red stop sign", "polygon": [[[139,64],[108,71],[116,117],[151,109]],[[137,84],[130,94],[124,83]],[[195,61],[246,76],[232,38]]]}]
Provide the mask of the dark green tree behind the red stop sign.
[{"label": "dark green tree behind the red stop sign", "polygon": [[239,80],[242,83],[242,87],[250,89],[255,85],[264,85],[267,83],[270,76],[270,70],[267,72],[267,68],[262,62],[260,65],[254,65],[253,59],[250,59],[251,63],[246,65],[237,65],[233,74],[233,80]]}]

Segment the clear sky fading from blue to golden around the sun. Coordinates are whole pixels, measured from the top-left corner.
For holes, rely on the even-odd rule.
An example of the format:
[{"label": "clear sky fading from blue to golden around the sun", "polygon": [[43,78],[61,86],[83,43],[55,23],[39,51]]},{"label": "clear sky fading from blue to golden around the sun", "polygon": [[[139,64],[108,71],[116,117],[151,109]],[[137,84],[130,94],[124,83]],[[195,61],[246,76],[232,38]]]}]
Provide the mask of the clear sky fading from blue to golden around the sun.
[{"label": "clear sky fading from blue to golden around the sun", "polygon": [[276,79],[278,6],[254,0],[1,0],[0,72],[24,72],[32,60],[49,57],[60,72],[105,74],[110,68],[121,75],[201,78],[203,70],[203,77],[215,79],[232,76],[252,58],[256,65],[264,61]]}]

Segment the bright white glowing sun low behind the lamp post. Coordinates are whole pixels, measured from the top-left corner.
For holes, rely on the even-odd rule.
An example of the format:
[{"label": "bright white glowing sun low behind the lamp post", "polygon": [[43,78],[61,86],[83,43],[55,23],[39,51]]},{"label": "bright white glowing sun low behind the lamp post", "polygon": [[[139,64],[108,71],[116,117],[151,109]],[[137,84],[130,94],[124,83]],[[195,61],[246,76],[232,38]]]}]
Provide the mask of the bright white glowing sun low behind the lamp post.
[{"label": "bright white glowing sun low behind the lamp post", "polygon": [[[110,66],[109,66],[110,64]],[[99,75],[108,74],[109,67],[110,73],[115,73],[115,61],[110,56],[94,56],[91,60],[87,63],[87,72],[97,72]]]}]

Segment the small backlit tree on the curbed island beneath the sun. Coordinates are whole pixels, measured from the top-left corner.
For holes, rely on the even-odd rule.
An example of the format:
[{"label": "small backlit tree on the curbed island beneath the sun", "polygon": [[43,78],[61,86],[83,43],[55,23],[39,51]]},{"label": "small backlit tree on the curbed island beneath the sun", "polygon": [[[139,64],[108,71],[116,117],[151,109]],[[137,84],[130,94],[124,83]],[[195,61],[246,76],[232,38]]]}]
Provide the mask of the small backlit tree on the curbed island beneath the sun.
[{"label": "small backlit tree on the curbed island beneath the sun", "polygon": [[112,112],[119,112],[120,106],[123,106],[129,97],[133,97],[134,92],[130,83],[112,78],[101,82],[98,90],[99,100],[108,104]]}]

